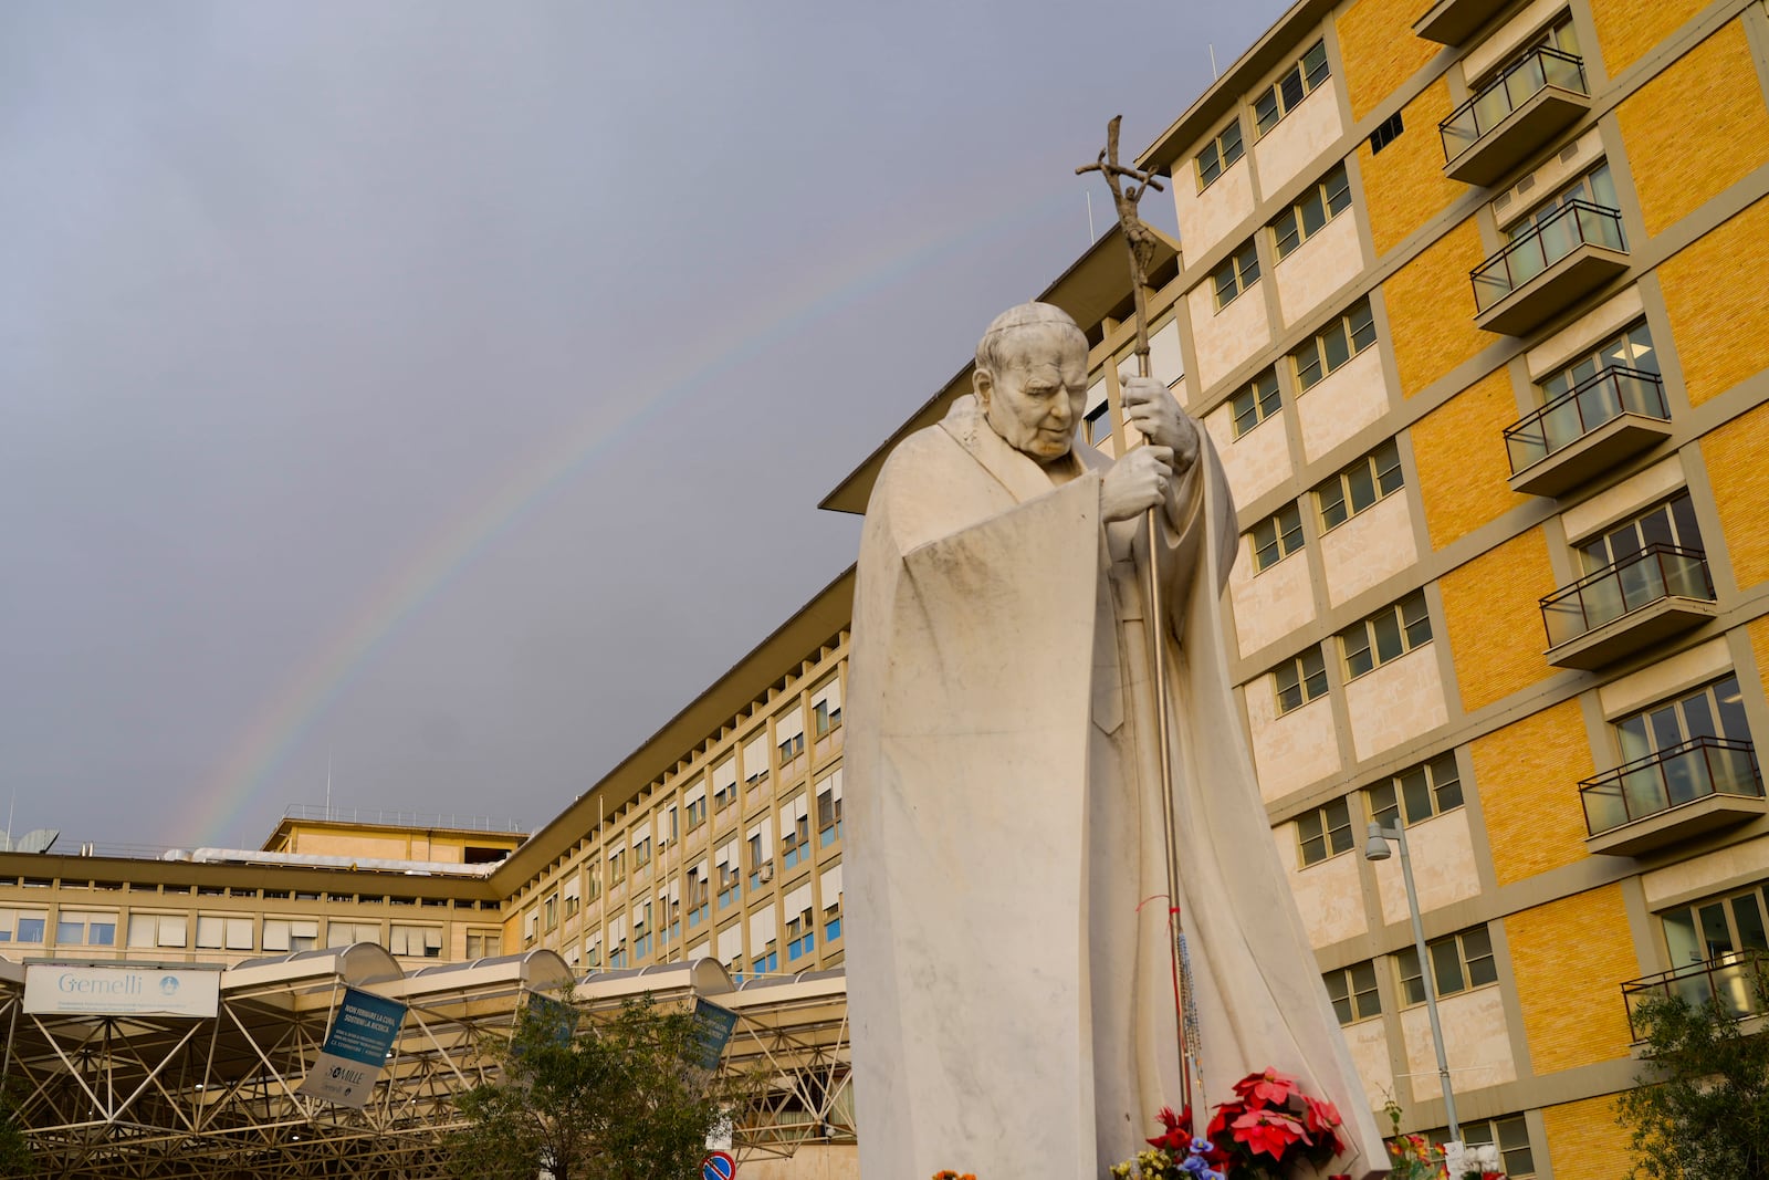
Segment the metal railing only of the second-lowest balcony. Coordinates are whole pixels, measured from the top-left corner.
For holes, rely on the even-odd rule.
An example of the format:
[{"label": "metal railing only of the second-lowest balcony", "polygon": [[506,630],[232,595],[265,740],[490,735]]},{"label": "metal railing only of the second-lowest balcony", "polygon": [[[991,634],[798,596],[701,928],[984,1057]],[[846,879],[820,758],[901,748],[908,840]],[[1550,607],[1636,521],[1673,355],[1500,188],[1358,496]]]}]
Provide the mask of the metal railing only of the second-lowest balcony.
[{"label": "metal railing only of the second-lowest balcony", "polygon": [[1585,830],[1594,837],[1716,794],[1764,798],[1750,741],[1693,738],[1578,784]]}]

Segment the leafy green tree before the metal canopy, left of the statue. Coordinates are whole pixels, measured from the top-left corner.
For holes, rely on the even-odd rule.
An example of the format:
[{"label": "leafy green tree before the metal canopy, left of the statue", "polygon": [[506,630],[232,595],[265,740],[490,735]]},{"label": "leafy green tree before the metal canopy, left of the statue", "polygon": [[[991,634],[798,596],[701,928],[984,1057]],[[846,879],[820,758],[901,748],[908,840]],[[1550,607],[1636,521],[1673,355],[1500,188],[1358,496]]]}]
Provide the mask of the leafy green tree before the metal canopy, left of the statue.
[{"label": "leafy green tree before the metal canopy, left of the statue", "polygon": [[501,1077],[456,1102],[472,1127],[449,1136],[465,1180],[681,1180],[699,1175],[706,1138],[734,1083],[697,1061],[701,1026],[651,996],[609,1021],[531,1000],[501,1053]]}]

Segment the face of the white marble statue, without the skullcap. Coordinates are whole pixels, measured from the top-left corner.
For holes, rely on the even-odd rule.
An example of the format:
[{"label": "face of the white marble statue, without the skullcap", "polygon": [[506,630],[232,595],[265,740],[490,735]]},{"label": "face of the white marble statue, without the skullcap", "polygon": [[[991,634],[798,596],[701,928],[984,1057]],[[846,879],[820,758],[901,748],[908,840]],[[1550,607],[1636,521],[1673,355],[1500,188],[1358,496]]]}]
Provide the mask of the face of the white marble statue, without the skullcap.
[{"label": "face of the white marble statue, without the skullcap", "polygon": [[999,373],[976,370],[976,396],[998,435],[1040,464],[1068,455],[1088,395],[1088,347],[1065,324],[1028,324],[1003,341]]}]

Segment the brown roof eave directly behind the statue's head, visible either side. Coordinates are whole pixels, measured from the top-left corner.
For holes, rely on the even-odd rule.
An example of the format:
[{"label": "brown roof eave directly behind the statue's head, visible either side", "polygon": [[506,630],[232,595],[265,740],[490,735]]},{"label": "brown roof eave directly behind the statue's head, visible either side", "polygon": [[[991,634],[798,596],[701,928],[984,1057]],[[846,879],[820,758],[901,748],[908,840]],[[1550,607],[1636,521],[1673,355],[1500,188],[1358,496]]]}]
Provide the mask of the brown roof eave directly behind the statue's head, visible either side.
[{"label": "brown roof eave directly behind the statue's head, visible either side", "polygon": [[[1157,239],[1155,258],[1148,267],[1150,283],[1159,288],[1166,281],[1160,278],[1162,272],[1178,269],[1180,244],[1153,226],[1150,226],[1150,232]],[[1125,304],[1130,303],[1127,265],[1123,234],[1114,225],[1106,235],[1088,246],[1079,258],[1068,264],[1068,269],[1056,276],[1056,281],[1045,287],[1037,299],[1040,303],[1053,303],[1072,315],[1081,331],[1088,333],[1088,340],[1095,340],[1097,333],[1093,329],[1106,317],[1123,311]],[[968,361],[964,368],[953,373],[952,380],[941,386],[939,393],[923,402],[904,425],[897,426],[846,479],[835,485],[835,490],[824,495],[817,508],[853,513],[856,517],[863,515],[867,501],[872,497],[872,485],[877,483],[884,460],[911,433],[923,426],[932,426],[945,418],[946,407],[959,395],[969,393],[973,368],[976,368],[976,363]]]}]

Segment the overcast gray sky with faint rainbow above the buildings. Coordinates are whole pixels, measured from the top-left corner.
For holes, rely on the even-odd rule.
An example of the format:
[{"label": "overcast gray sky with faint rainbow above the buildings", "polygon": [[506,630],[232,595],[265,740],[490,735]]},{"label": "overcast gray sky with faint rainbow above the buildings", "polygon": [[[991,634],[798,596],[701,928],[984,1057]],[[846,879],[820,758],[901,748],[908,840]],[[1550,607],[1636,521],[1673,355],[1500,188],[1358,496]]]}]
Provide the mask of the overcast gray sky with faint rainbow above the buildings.
[{"label": "overcast gray sky with faint rainbow above the buildings", "polygon": [[1283,9],[0,5],[0,807],[545,823]]}]

